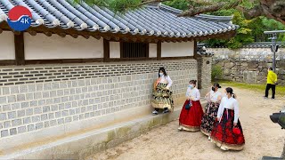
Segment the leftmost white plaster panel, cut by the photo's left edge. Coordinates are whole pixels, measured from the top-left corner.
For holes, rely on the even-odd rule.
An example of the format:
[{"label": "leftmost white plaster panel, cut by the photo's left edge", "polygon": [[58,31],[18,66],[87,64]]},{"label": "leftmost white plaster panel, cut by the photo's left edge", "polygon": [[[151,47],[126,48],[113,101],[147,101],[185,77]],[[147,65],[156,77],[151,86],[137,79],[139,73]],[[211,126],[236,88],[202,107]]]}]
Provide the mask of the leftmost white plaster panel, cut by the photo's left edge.
[{"label": "leftmost white plaster panel, cut by the photo's left edge", "polygon": [[0,34],[0,60],[15,60],[15,44],[12,32]]}]

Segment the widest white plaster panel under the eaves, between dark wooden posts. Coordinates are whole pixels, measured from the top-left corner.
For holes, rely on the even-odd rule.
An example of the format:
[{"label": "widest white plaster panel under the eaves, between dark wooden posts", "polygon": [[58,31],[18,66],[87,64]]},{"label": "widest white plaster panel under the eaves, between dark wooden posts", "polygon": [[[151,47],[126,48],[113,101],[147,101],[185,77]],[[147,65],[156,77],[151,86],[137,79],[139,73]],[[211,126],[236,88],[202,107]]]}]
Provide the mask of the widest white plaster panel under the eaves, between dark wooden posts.
[{"label": "widest white plaster panel under the eaves, between dark wooden posts", "polygon": [[82,36],[24,35],[26,60],[103,58],[103,40]]}]

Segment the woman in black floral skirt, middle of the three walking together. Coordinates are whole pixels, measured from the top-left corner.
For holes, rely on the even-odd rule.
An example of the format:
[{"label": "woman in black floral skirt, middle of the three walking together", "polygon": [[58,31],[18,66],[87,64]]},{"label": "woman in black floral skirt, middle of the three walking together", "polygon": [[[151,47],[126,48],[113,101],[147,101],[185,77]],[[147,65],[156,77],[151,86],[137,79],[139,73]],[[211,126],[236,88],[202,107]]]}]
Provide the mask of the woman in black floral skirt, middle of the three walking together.
[{"label": "woman in black floral skirt, middle of the three walking together", "polygon": [[209,136],[211,135],[213,125],[216,121],[216,114],[220,106],[220,102],[222,100],[222,93],[218,91],[219,88],[221,88],[220,84],[214,84],[212,86],[212,91],[206,94],[208,103],[205,109],[204,116],[202,118],[202,124],[200,129],[201,132],[208,136],[208,138],[210,138]]}]

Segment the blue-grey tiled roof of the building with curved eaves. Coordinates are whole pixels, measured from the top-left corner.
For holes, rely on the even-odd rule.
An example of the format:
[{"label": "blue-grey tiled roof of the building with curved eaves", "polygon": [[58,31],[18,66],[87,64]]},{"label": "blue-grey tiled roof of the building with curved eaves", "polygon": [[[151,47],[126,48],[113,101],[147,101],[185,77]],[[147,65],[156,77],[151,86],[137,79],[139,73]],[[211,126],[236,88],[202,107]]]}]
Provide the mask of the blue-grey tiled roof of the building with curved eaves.
[{"label": "blue-grey tiled roof of the building with curved eaves", "polygon": [[0,0],[0,22],[7,19],[15,5],[32,12],[32,27],[75,28],[90,32],[131,33],[133,35],[195,37],[222,34],[238,28],[232,17],[200,14],[191,18],[177,17],[182,12],[164,4],[154,4],[124,15],[107,8],[69,4],[66,0]]}]

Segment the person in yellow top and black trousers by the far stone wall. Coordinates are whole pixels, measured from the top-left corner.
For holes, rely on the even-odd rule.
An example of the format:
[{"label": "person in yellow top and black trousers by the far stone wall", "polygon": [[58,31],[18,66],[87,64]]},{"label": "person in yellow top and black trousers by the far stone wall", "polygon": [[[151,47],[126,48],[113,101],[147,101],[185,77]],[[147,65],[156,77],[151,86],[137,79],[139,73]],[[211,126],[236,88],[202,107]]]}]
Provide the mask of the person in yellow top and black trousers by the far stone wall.
[{"label": "person in yellow top and black trousers by the far stone wall", "polygon": [[275,99],[275,86],[277,84],[277,75],[273,72],[273,68],[268,68],[267,85],[265,89],[265,99],[268,98],[268,91],[272,89],[273,97]]}]

